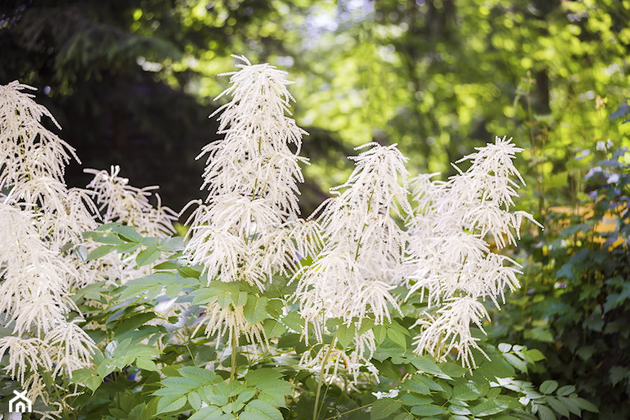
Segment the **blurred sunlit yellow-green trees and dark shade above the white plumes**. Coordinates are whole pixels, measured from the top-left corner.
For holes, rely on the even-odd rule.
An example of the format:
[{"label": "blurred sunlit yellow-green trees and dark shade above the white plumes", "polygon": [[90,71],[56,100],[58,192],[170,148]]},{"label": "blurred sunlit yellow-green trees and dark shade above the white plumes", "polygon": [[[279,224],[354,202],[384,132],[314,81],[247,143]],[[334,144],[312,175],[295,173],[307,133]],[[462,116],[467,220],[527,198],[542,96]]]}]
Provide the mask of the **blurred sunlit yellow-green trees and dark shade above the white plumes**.
[{"label": "blurred sunlit yellow-green trees and dark shade above the white plumes", "polygon": [[[507,135],[527,149],[527,175],[574,195],[580,174],[568,161],[602,126],[619,127],[608,116],[630,95],[627,0],[0,5],[0,83],[37,87],[84,167],[121,165],[176,210],[200,197],[194,158],[216,139],[207,116],[230,54],[295,80],[295,119],[311,134],[305,211],[344,181],[345,156],[367,141],[398,143],[412,172],[448,174],[449,162]],[[69,183],[86,180],[70,168]]]}]

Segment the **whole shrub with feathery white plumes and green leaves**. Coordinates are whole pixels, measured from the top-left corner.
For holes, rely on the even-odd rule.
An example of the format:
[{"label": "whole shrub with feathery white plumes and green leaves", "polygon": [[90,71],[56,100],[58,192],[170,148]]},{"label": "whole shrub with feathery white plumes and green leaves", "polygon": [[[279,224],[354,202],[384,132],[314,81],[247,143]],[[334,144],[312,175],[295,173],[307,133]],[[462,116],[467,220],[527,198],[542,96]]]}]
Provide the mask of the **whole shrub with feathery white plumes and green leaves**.
[{"label": "whole shrub with feathery white plumes and green leaves", "polygon": [[38,412],[402,420],[594,409],[574,388],[520,379],[540,351],[483,334],[484,300],[498,306],[519,273],[488,237],[514,244],[533,220],[512,211],[519,148],[497,138],[448,181],[413,179],[410,203],[407,158],[366,144],[304,221],[290,82],[237,59],[217,111],[225,138],[200,155],[209,194],[190,203],[185,240],[118,168],[89,170],[92,193],[66,190],[71,148],[41,128],[50,115],[24,86],[2,87],[0,349]]}]

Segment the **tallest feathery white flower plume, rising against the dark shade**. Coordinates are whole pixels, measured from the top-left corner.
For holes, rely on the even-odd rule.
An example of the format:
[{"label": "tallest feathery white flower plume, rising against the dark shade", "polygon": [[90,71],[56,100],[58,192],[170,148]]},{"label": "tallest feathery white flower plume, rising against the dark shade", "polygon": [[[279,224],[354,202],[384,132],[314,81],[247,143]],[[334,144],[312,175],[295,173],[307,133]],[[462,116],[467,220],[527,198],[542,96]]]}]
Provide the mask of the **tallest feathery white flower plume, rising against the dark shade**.
[{"label": "tallest feathery white flower plume, rising against the dark shade", "polygon": [[[298,217],[300,163],[308,162],[298,153],[306,132],[288,116],[287,73],[235,58],[244,64],[226,73],[232,85],[216,98],[232,99],[212,114],[221,114],[218,133],[225,138],[197,156],[207,155],[202,188],[209,194],[188,219],[186,250],[209,283],[246,281],[262,290],[274,274],[292,274],[300,256],[315,252],[318,231]],[[210,304],[207,335],[230,332],[260,342],[260,325],[247,325],[241,312]]]}]

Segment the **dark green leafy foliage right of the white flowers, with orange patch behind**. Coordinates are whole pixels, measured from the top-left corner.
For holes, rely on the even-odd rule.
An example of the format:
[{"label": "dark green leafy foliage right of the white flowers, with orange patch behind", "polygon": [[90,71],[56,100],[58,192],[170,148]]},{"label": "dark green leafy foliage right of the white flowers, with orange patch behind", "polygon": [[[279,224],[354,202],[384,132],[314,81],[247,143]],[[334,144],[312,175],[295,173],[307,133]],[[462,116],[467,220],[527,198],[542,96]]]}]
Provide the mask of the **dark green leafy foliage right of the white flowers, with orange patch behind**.
[{"label": "dark green leafy foliage right of the white flowers, with orange patch behind", "polygon": [[[610,118],[626,114],[621,106]],[[598,141],[592,153],[603,160],[585,177],[586,197],[577,207],[549,207],[545,235],[530,244],[526,293],[499,314],[497,334],[545,353],[548,369],[536,377],[575,382],[578,391],[594,395],[602,416],[625,418],[630,416],[629,151],[608,139]]]}]

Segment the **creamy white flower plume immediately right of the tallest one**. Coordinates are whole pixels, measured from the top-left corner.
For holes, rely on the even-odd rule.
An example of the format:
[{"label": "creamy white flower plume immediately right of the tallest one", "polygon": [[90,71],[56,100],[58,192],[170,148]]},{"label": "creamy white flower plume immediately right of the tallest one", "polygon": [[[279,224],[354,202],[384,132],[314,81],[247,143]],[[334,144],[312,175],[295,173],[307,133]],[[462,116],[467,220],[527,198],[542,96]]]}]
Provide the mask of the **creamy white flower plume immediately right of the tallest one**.
[{"label": "creamy white flower plume immediately right of the tallest one", "polygon": [[321,328],[325,318],[335,317],[349,324],[374,316],[376,323],[383,323],[390,318],[390,308],[399,310],[389,290],[400,281],[396,273],[407,234],[391,214],[411,211],[406,184],[400,185],[400,178],[408,175],[407,158],[395,145],[360,148],[370,146],[351,158],[356,168],[348,181],[333,188],[337,197],[320,207],[323,251],[297,275],[302,316]]}]

